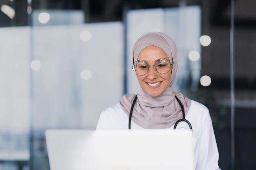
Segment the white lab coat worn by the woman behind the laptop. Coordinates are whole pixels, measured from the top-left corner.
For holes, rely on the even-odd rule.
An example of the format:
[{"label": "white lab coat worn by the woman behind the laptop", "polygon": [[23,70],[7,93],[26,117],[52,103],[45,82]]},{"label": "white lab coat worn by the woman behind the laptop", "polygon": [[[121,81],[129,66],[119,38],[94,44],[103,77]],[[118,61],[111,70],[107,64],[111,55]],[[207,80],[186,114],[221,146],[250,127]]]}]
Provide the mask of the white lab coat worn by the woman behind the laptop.
[{"label": "white lab coat worn by the woman behind the laptop", "polygon": [[[186,119],[193,128],[195,170],[220,170],[219,153],[208,108],[192,100]],[[97,130],[128,129],[128,122],[129,117],[118,103],[101,113]],[[174,125],[170,129],[173,127]],[[176,129],[178,128],[189,129],[189,126],[180,122]],[[131,129],[144,128],[131,121]]]}]

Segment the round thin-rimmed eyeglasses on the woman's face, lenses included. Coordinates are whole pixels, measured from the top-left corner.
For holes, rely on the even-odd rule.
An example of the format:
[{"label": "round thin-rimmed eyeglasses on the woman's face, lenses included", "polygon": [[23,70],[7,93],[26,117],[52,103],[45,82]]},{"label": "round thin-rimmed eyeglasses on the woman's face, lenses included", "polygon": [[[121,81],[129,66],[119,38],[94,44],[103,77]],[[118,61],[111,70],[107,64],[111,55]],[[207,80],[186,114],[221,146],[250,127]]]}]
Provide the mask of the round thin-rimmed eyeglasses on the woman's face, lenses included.
[{"label": "round thin-rimmed eyeglasses on the woman's face, lenses included", "polygon": [[[155,71],[157,71],[160,74],[168,73],[171,70],[171,63],[166,58],[160,58],[155,62],[155,65],[152,65],[155,67]],[[132,70],[137,75],[145,75],[148,73],[149,66],[147,62],[144,60],[137,60],[132,65]]]}]

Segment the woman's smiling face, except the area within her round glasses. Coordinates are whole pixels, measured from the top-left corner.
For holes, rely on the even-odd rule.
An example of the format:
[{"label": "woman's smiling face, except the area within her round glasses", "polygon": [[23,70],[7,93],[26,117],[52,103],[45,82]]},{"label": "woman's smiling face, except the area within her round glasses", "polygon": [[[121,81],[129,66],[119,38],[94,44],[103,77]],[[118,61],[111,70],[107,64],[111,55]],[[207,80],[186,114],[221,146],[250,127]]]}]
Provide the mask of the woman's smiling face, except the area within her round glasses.
[{"label": "woman's smiling face, except the area within her round glasses", "polygon": [[149,65],[149,70],[145,75],[137,75],[139,84],[152,97],[161,95],[171,81],[172,67],[165,74],[155,71],[153,65],[160,58],[166,58],[170,62],[166,53],[159,47],[153,45],[143,49],[138,56],[138,60],[144,60]]}]

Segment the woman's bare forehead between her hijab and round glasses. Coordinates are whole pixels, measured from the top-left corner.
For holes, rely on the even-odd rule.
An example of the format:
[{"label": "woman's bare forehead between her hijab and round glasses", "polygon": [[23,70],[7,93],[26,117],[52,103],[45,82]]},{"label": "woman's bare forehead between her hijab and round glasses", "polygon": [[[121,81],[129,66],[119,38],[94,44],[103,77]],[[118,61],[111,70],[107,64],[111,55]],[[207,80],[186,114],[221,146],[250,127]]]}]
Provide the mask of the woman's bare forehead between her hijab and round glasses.
[{"label": "woman's bare forehead between her hijab and round glasses", "polygon": [[156,61],[160,58],[166,58],[168,61],[168,55],[157,46],[150,45],[145,49],[141,50],[138,56],[138,60],[145,60],[145,61]]}]

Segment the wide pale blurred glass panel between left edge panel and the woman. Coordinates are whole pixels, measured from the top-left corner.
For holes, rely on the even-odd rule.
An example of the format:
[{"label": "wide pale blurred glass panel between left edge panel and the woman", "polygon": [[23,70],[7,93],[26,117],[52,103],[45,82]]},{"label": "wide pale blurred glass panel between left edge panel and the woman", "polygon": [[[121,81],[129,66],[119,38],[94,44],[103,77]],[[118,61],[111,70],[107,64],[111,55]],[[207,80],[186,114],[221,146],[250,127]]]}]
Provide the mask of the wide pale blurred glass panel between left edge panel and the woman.
[{"label": "wide pale blurred glass panel between left edge panel and the woman", "polygon": [[63,13],[55,11],[62,24],[33,26],[30,167],[37,170],[49,169],[45,130],[95,129],[123,93],[123,24],[65,24],[65,15],[78,13]]}]

